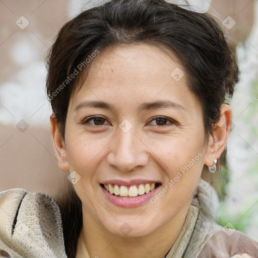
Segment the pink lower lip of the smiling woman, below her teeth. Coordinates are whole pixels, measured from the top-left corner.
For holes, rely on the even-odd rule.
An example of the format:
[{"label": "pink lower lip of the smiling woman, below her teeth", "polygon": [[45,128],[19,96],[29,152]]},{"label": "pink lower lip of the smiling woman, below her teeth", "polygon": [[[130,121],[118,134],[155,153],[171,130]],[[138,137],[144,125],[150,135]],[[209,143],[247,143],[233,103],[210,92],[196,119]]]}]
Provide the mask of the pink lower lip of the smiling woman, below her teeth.
[{"label": "pink lower lip of the smiling woman, below her teeth", "polygon": [[141,206],[147,203],[148,201],[150,201],[150,199],[155,195],[156,191],[161,187],[161,185],[159,185],[149,193],[145,193],[144,195],[137,196],[137,197],[125,197],[125,198],[111,195],[111,193],[107,191],[104,187],[102,187],[101,185],[100,187],[104,195],[107,197],[107,199],[114,205],[119,207],[124,207],[124,208],[134,208],[134,207]]}]

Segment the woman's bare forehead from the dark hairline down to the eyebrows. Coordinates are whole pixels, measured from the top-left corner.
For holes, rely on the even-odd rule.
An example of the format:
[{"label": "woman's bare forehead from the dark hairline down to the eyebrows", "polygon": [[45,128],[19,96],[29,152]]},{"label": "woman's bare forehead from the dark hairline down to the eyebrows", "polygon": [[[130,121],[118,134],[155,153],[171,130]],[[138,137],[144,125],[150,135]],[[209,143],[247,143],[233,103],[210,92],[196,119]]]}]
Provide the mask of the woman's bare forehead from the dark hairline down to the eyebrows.
[{"label": "woman's bare forehead from the dark hairline down to the eyebrows", "polygon": [[146,43],[119,43],[101,49],[92,60],[86,81],[74,95],[74,102],[110,99],[114,95],[123,101],[164,97],[177,102],[186,97],[189,102],[197,101],[173,53],[163,45]]}]

